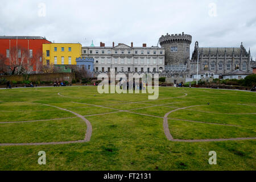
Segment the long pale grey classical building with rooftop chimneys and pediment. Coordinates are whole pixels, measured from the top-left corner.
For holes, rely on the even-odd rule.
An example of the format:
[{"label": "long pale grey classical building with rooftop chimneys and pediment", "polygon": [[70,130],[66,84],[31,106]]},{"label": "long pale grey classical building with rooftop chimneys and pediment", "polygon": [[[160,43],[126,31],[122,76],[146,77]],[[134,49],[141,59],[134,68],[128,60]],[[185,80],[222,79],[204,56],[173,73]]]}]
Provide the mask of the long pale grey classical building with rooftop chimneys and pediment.
[{"label": "long pale grey classical building with rooftop chimneys and pediment", "polygon": [[157,73],[164,71],[164,48],[127,46],[119,43],[117,46],[105,47],[82,47],[82,57],[94,59],[94,72],[115,72],[122,73]]}]

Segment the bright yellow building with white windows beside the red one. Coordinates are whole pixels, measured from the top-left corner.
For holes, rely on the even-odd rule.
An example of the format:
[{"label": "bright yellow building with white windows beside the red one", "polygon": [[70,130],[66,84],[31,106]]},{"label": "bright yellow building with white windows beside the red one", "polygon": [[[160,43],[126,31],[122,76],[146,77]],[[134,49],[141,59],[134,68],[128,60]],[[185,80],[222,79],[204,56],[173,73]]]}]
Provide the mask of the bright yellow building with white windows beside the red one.
[{"label": "bright yellow building with white windows beside the red one", "polygon": [[76,64],[76,58],[81,57],[81,49],[79,43],[43,44],[44,64]]}]

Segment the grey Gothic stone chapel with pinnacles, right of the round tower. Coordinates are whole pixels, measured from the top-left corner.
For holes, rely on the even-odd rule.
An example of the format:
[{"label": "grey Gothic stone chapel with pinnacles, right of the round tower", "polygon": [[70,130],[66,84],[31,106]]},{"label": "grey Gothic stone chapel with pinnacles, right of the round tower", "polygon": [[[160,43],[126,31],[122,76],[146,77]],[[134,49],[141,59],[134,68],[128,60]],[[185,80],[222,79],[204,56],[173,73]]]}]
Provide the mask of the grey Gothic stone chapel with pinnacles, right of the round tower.
[{"label": "grey Gothic stone chapel with pinnacles, right of the round tower", "polygon": [[222,78],[226,73],[240,70],[252,73],[252,65],[255,61],[251,59],[250,49],[247,52],[243,44],[240,47],[199,47],[195,43],[195,50],[189,61],[190,74],[195,75],[197,71],[197,56],[199,55],[199,71],[208,71],[210,74],[220,75]]}]

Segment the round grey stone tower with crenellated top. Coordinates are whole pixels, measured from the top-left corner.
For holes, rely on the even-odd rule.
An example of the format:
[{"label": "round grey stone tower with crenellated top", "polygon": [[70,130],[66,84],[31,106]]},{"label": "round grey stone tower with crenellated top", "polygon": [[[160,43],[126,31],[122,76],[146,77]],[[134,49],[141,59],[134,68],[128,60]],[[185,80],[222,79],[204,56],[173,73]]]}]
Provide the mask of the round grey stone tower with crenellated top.
[{"label": "round grey stone tower with crenellated top", "polygon": [[192,36],[184,34],[167,34],[159,38],[159,44],[165,48],[165,65],[187,65],[190,56]]}]

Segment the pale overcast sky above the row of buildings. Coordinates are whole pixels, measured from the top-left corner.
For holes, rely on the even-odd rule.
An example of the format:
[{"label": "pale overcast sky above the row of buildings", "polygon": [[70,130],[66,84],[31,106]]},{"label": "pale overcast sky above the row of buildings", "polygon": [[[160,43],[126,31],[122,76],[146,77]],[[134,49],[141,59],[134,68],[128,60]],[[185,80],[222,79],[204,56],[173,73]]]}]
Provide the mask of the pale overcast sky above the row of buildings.
[{"label": "pale overcast sky above the row of buildings", "polygon": [[162,35],[192,35],[200,47],[240,47],[256,57],[255,0],[2,1],[0,35],[55,43],[156,46]]}]

